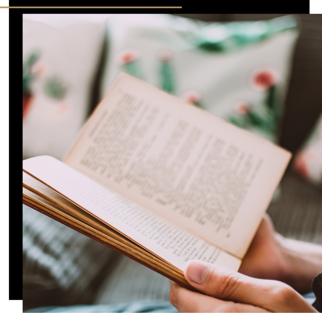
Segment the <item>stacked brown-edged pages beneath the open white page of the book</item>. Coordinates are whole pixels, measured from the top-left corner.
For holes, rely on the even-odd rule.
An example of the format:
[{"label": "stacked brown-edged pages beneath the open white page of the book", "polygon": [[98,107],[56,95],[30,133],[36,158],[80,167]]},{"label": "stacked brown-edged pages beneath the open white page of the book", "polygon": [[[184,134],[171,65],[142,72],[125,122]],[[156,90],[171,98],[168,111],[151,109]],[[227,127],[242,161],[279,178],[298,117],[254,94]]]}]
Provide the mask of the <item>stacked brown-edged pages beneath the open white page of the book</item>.
[{"label": "stacked brown-edged pages beneath the open white page of the book", "polygon": [[[85,232],[87,235],[91,237],[93,236],[95,239],[103,241],[105,244],[108,244],[113,248],[125,252],[126,254],[134,257],[136,260],[142,261],[147,266],[151,266],[153,269],[161,271],[163,274],[166,274],[167,277],[170,276],[175,280],[190,285],[186,281],[185,276],[183,275],[183,271],[179,270],[172,264],[169,264],[165,260],[157,257],[155,254],[152,254],[150,251],[138,245],[134,241],[123,236],[115,229],[103,223],[100,219],[97,219],[96,217],[94,218],[87,211],[80,209],[82,213],[78,216],[78,218],[75,217],[74,212],[73,214],[67,213],[72,208],[76,209],[76,212],[80,213],[80,211],[77,209],[79,207],[76,206],[76,204],[74,204],[73,202],[68,201],[67,198],[62,197],[58,192],[55,192],[52,188],[41,183],[32,176],[26,174],[25,172],[23,172],[23,176],[23,184],[27,187],[27,189],[23,187],[23,200],[27,205],[31,205],[32,207],[35,206],[43,212],[50,214],[52,218],[59,219],[60,221],[67,223],[70,227]],[[26,176],[28,176],[27,179],[25,179]],[[44,193],[41,195],[38,191],[38,186],[35,186],[39,184],[43,185],[41,186],[40,190]],[[37,193],[33,193],[30,190],[33,189],[31,185],[33,187],[36,187],[35,190],[37,190]],[[44,188],[44,186],[46,186],[46,188]],[[63,198],[62,203],[64,208],[62,208],[60,205],[56,205],[52,201],[46,200],[48,199],[48,196],[50,199],[52,199],[53,194],[54,199],[56,201],[58,200],[58,202],[61,202],[59,199],[62,200]],[[43,198],[43,196],[45,196],[45,198]],[[66,210],[67,208],[68,210]],[[88,223],[89,220],[92,223]]]}]

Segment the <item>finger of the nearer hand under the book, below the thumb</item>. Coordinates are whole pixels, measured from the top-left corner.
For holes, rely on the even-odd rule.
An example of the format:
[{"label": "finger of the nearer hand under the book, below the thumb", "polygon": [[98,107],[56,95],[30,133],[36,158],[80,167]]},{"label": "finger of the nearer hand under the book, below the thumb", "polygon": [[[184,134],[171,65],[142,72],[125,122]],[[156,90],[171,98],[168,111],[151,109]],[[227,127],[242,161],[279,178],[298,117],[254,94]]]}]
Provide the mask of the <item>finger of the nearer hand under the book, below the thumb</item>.
[{"label": "finger of the nearer hand under the book, below the thumb", "polygon": [[219,300],[170,281],[169,300],[179,312],[268,312],[248,304]]}]

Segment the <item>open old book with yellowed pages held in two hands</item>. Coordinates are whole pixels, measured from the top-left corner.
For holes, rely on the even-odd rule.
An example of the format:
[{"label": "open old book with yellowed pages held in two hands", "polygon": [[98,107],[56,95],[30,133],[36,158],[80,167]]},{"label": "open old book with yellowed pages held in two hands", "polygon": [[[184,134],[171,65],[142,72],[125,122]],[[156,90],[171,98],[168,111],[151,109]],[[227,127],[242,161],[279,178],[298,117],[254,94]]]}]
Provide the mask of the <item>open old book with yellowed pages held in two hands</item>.
[{"label": "open old book with yellowed pages held in two hands", "polygon": [[23,161],[23,201],[189,286],[238,270],[291,154],[122,73],[64,162]]}]

